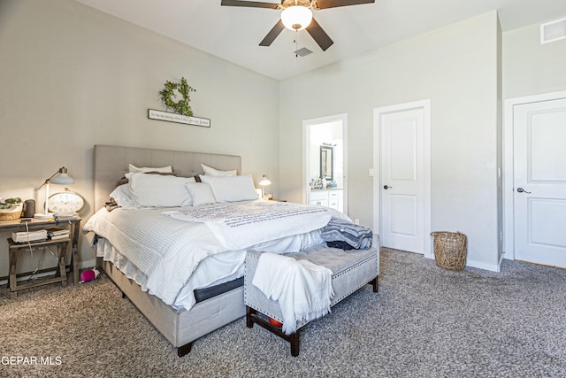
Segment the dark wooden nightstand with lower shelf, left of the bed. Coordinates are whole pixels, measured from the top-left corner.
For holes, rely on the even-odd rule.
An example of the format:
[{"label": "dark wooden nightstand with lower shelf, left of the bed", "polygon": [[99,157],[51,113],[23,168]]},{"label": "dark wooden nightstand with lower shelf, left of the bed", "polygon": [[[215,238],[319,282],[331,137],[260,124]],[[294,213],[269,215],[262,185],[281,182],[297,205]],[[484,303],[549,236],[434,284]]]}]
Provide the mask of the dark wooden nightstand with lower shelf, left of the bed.
[{"label": "dark wooden nightstand with lower shelf, left of the bed", "polygon": [[[46,284],[53,282],[66,283],[66,266],[65,266],[65,255],[71,249],[71,262],[69,266],[69,273],[73,273],[73,282],[79,283],[79,265],[78,265],[78,254],[79,254],[79,233],[80,233],[80,218],[71,220],[41,220],[41,219],[21,219],[21,220],[0,220],[0,231],[2,232],[22,232],[22,231],[32,231],[37,229],[50,229],[50,228],[67,228],[70,230],[70,235],[68,239],[58,239],[58,240],[46,240],[44,242],[30,243],[31,247],[37,249],[39,247],[52,247],[57,248],[57,266],[53,268],[46,269],[45,271],[55,271],[57,277],[51,280],[42,280],[38,284]],[[8,240],[9,251],[10,251],[10,273],[9,273],[9,285],[11,291],[11,297],[17,297],[17,290],[27,289],[37,284],[27,283],[23,285],[17,285],[16,282],[16,263],[18,261],[18,254],[25,251],[29,251],[29,245],[27,243],[14,243],[11,239]],[[65,271],[65,272],[63,272]],[[31,272],[22,273],[18,275],[31,274]],[[64,278],[65,277],[65,282]],[[12,284],[13,282],[13,284]],[[30,286],[28,286],[30,285]],[[13,288],[13,290],[12,290]]]}]

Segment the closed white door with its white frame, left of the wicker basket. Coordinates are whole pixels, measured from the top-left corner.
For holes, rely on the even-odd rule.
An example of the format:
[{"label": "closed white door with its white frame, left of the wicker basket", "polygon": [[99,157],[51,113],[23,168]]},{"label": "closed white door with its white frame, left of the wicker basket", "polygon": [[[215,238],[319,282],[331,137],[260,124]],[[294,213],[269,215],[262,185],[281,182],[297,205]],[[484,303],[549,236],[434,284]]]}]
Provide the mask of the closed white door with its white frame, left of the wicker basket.
[{"label": "closed white door with its white frame, left of the wicker basket", "polygon": [[430,114],[425,100],[378,108],[373,117],[374,229],[383,247],[427,258],[432,258]]}]

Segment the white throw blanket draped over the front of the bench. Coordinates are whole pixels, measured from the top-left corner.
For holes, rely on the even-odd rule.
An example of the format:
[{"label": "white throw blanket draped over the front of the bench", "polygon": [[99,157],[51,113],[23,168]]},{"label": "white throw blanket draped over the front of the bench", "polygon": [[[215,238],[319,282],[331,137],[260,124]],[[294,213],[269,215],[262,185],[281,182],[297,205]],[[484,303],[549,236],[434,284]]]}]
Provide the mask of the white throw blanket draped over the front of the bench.
[{"label": "white throw blanket draped over the front of the bench", "polygon": [[279,303],[282,331],[290,335],[296,331],[297,321],[315,320],[330,312],[332,275],[330,269],[309,260],[262,253],[252,284]]}]

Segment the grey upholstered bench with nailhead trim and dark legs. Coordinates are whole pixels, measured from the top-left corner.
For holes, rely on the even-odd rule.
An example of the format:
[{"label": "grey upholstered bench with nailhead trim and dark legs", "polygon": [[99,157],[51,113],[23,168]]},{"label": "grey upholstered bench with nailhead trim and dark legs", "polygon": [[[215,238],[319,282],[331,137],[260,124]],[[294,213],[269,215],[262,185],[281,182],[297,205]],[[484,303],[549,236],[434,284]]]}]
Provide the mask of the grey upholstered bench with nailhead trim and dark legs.
[{"label": "grey upholstered bench with nailhead trim and dark legs", "polygon": [[[286,335],[280,327],[277,327],[277,322],[283,321],[279,303],[265,297],[264,293],[252,284],[261,254],[261,251],[248,251],[246,255],[244,275],[246,326],[252,328],[254,323],[256,323],[287,340],[291,343],[291,355],[296,357],[299,355],[299,328],[307,324],[307,321],[297,321],[296,331],[291,335]],[[369,250],[343,251],[321,244],[308,251],[287,253],[285,256],[293,257],[297,260],[307,259],[313,264],[326,266],[333,272],[334,296],[331,306],[336,305],[342,299],[368,283],[373,285],[374,292],[378,292],[379,247],[372,247]]]}]

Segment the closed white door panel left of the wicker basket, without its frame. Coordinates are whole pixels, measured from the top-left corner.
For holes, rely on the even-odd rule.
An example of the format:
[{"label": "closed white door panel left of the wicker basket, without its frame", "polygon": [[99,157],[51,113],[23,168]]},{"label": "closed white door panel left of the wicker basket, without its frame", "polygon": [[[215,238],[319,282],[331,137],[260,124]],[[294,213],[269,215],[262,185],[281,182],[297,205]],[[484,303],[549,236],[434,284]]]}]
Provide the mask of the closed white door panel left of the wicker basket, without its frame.
[{"label": "closed white door panel left of the wicker basket, without its frame", "polygon": [[424,111],[382,113],[379,123],[382,245],[424,253]]}]

